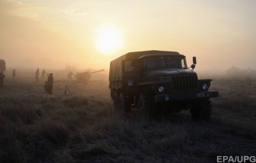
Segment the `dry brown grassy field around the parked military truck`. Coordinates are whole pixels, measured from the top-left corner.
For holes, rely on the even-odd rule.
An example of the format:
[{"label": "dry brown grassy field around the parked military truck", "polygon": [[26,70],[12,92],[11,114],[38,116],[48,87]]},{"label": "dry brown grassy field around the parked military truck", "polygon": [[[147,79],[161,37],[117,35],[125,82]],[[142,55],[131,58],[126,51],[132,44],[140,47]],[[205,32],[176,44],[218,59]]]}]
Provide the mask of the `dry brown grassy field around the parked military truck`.
[{"label": "dry brown grassy field around the parked military truck", "polygon": [[[210,122],[190,111],[163,120],[113,111],[108,80],[88,85],[6,76],[0,89],[0,162],[216,162],[256,155],[256,80],[214,76]],[[72,93],[65,95],[65,85]],[[69,93],[69,92],[68,92]]]}]

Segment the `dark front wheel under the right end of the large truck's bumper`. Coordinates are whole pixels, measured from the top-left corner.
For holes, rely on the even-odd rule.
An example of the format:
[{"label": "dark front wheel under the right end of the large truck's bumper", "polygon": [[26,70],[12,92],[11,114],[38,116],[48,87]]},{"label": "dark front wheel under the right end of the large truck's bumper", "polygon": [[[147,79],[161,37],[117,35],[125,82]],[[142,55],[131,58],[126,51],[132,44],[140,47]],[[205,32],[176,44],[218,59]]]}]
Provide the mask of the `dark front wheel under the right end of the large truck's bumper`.
[{"label": "dark front wheel under the right end of the large truck's bumper", "polygon": [[208,121],[211,117],[211,100],[209,98],[200,100],[190,111],[193,120]]}]

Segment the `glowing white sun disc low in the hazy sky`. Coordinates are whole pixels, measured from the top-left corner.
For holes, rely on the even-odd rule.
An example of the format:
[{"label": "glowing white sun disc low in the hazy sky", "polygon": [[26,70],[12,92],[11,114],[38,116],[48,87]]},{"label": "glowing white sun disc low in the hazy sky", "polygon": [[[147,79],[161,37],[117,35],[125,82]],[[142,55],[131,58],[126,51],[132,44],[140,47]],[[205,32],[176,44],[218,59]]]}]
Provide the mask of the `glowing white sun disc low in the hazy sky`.
[{"label": "glowing white sun disc low in the hazy sky", "polygon": [[111,55],[111,53],[122,46],[121,32],[115,27],[101,27],[97,30],[95,43],[101,53]]}]

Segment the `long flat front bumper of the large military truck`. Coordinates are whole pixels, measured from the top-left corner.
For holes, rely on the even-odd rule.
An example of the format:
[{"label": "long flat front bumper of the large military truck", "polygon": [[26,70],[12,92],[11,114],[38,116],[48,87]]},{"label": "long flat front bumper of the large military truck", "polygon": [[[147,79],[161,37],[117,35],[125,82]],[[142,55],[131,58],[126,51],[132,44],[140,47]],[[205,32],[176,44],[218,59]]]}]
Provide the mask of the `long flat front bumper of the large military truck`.
[{"label": "long flat front bumper of the large military truck", "polygon": [[218,97],[219,92],[193,92],[186,94],[161,94],[155,96],[155,103],[166,102],[166,101],[180,101],[180,100],[189,100],[189,99],[201,99],[201,98],[210,98]]}]

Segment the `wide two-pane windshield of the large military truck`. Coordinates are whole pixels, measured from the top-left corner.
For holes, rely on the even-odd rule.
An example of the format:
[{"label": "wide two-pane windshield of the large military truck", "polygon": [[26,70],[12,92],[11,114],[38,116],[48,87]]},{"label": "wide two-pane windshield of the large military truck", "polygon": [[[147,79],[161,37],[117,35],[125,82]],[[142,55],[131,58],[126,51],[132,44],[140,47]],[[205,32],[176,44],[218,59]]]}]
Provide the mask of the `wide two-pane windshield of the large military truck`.
[{"label": "wide two-pane windshield of the large military truck", "polygon": [[148,57],[143,59],[144,69],[187,68],[184,57]]}]

